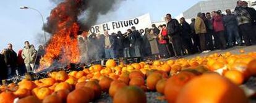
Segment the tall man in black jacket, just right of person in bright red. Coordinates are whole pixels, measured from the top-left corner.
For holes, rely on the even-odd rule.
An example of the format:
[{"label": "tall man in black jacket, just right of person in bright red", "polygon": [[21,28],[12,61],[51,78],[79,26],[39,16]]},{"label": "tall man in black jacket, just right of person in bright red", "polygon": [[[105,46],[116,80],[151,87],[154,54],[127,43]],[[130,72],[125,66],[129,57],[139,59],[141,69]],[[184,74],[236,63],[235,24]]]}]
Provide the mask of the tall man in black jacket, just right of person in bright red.
[{"label": "tall man in black jacket, just right of person in bright red", "polygon": [[181,58],[181,25],[178,20],[171,18],[171,14],[166,14],[166,20],[167,33],[173,41],[176,58]]}]

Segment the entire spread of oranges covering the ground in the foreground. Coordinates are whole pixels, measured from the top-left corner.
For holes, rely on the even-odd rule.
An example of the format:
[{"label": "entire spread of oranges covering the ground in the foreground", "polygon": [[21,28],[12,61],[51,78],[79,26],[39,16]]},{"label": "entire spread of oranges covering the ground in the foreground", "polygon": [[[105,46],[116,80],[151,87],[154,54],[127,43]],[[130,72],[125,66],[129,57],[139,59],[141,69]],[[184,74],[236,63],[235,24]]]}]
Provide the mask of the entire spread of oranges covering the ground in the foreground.
[{"label": "entire spread of oranges covering the ground in the foreground", "polygon": [[[145,103],[145,92],[163,94],[168,102],[245,103],[239,86],[256,76],[256,52],[211,54],[207,57],[92,65],[82,71],[51,72],[48,78],[0,86],[0,103],[84,103],[109,93],[114,103]],[[150,102],[150,101],[148,101]]]}]

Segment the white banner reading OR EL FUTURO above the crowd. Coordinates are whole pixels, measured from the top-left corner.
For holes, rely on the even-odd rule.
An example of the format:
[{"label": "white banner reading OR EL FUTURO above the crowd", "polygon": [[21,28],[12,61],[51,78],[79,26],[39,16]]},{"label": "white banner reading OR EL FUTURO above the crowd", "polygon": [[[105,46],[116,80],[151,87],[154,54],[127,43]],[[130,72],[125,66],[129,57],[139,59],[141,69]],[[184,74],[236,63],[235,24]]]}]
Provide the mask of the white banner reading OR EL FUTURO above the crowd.
[{"label": "white banner reading OR EL FUTURO above the crowd", "polygon": [[117,33],[117,31],[125,33],[127,29],[133,26],[136,27],[136,30],[151,28],[150,14],[145,14],[129,20],[120,20],[94,25],[90,28],[89,33],[104,34],[105,30],[108,31],[109,35],[111,35],[111,33]]}]

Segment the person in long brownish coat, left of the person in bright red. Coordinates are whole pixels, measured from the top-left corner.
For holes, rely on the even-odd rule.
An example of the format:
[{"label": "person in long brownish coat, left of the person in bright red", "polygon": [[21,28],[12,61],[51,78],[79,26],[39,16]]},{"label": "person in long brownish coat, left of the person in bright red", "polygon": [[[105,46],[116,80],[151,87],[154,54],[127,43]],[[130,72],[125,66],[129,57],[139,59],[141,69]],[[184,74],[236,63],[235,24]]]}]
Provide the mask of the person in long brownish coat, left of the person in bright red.
[{"label": "person in long brownish coat, left of the person in bright red", "polygon": [[157,43],[158,36],[156,36],[154,34],[153,29],[150,29],[147,32],[149,32],[147,34],[147,38],[148,38],[148,41],[150,42],[150,48],[151,48],[152,55],[160,58],[160,56],[159,56],[160,52],[159,52],[158,43]]}]

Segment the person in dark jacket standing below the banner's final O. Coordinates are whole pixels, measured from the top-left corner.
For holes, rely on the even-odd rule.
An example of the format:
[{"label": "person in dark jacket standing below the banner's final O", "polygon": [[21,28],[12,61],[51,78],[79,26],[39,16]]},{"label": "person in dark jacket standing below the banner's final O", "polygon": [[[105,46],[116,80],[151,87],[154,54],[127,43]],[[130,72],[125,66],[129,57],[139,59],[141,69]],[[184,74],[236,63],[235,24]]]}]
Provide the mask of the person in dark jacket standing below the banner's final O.
[{"label": "person in dark jacket standing below the banner's final O", "polygon": [[140,46],[142,44],[143,39],[140,36],[139,31],[136,30],[135,27],[132,27],[132,33],[129,36],[130,47],[132,48],[131,56],[132,57],[140,57]]}]

